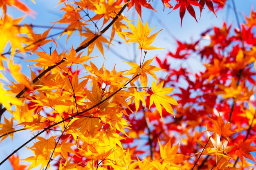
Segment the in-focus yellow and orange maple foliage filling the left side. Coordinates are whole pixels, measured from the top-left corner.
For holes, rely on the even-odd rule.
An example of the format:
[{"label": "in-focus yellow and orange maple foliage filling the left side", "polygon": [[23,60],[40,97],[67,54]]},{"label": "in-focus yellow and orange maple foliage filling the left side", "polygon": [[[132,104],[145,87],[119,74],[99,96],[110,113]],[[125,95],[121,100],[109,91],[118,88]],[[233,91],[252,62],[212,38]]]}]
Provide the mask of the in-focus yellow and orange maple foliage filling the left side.
[{"label": "in-focus yellow and orange maple foliage filling the left side", "polygon": [[[30,11],[28,8],[21,7],[22,3],[18,0],[12,4],[9,2],[11,1],[5,0],[0,5],[4,10],[8,4],[18,7],[26,13]],[[102,43],[107,43],[109,46],[115,33],[124,40],[129,38],[127,42],[138,43],[141,50],[159,49],[150,44],[161,30],[150,35],[152,29],[149,29],[147,23],[144,26],[139,20],[136,28],[123,15],[120,15],[112,25],[110,40],[101,35],[102,27],[113,20],[124,6],[122,0],[107,2],[82,0],[73,4],[61,0],[59,3],[64,4],[61,10],[65,11],[65,14],[61,20],[56,22],[67,24],[61,35],[67,33],[68,40],[70,35],[78,30],[81,37],[86,37],[80,46],[88,45],[88,55],[91,54],[95,45],[104,55]],[[85,19],[89,14],[83,9],[94,11],[96,14]],[[85,13],[83,17],[81,17],[81,13]],[[121,143],[121,140],[129,137],[128,132],[131,127],[125,116],[129,116],[126,108],[132,112],[129,104],[133,101],[135,101],[136,112],[140,101],[148,110],[152,110],[153,104],[155,104],[161,117],[162,109],[174,115],[171,105],[178,106],[175,99],[169,96],[173,88],[163,87],[164,82],[157,81],[154,71],[162,69],[150,65],[155,57],[146,60],[142,65],[128,63],[132,66],[129,71],[117,72],[115,67],[111,71],[104,66],[98,68],[92,62],[85,64],[84,62],[92,57],[82,56],[82,52],[77,53],[79,50],[75,50],[73,47],[69,53],[59,53],[57,49],[51,54],[38,51],[39,48],[51,41],[47,40],[51,28],[42,34],[37,34],[33,30],[33,25],[18,25],[21,20],[22,18],[13,20],[9,15],[4,15],[0,21],[0,53],[3,53],[8,42],[11,45],[11,58],[7,59],[1,56],[0,67],[4,69],[2,60],[7,60],[9,72],[17,82],[9,85],[10,91],[6,91],[2,84],[0,85],[0,96],[3,96],[0,98],[1,106],[7,108],[13,116],[11,119],[4,117],[4,124],[0,126],[0,135],[2,140],[8,136],[12,138],[13,133],[11,132],[15,131],[16,127],[24,128],[21,130],[29,129],[32,132],[47,131],[46,137],[36,136],[33,146],[28,148],[34,153],[33,156],[24,159],[31,162],[28,170],[37,167],[43,169],[49,163],[52,164],[52,160],[58,160],[59,168],[63,170],[106,169],[109,167],[117,170],[136,170],[144,169],[145,166],[148,166],[150,170],[180,169],[178,164],[189,157],[178,154],[178,145],[171,147],[170,141],[164,148],[159,142],[161,158],[157,161],[132,160],[130,151],[125,150]],[[95,24],[99,20],[103,20],[101,28]],[[122,33],[122,29],[128,29],[128,26],[122,22],[123,20],[128,22],[132,32]],[[95,32],[86,27],[87,22],[94,24]],[[24,33],[25,36],[20,36]],[[90,42],[97,36],[99,37],[94,42]],[[57,45],[55,41],[53,42]],[[23,46],[22,43],[27,46]],[[40,73],[47,68],[52,68],[50,72],[38,77],[31,71],[31,79],[38,78],[38,82],[31,82],[26,75],[20,73],[20,65],[14,64],[13,56],[18,52],[25,51],[30,51],[38,56],[36,59],[27,61],[35,62],[32,66],[43,67]],[[79,77],[78,67],[75,70],[72,67],[74,64],[83,65],[86,75]],[[127,75],[132,75],[132,78]],[[151,75],[158,84],[153,82],[151,87],[146,87],[148,75]],[[135,87],[135,81],[138,79],[140,84],[145,86],[141,88],[144,91],[139,91]],[[128,84],[134,87],[127,90],[125,86]],[[22,99],[13,96],[23,89],[25,89],[24,93],[20,96]],[[148,106],[145,100],[147,96],[150,97]],[[15,105],[13,106],[15,109],[11,109],[11,105]],[[58,131],[61,135],[56,135]],[[86,165],[81,165],[82,163],[74,162],[73,157],[90,161]],[[17,162],[18,158],[14,158],[11,157],[9,160]],[[99,161],[101,162],[99,163]],[[22,165],[17,167],[25,168]]]}]

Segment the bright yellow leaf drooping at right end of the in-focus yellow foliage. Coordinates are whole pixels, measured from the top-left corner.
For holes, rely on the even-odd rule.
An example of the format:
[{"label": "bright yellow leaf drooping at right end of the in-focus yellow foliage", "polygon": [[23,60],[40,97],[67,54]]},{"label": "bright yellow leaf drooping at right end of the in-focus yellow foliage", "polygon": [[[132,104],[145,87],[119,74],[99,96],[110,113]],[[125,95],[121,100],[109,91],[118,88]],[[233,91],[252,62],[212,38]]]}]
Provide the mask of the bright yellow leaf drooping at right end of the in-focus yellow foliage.
[{"label": "bright yellow leaf drooping at right end of the in-focus yellow foliage", "polygon": [[173,115],[174,115],[174,112],[173,112],[173,108],[171,107],[171,104],[175,106],[179,106],[179,104],[176,102],[176,100],[173,97],[166,95],[171,93],[173,91],[173,88],[171,87],[162,88],[163,85],[164,85],[164,82],[161,82],[158,85],[156,85],[156,82],[154,81],[152,82],[152,86],[151,86],[152,93],[150,94],[150,102],[148,106],[148,109],[150,109],[150,106],[152,106],[152,104],[154,103],[157,110],[160,113],[162,120],[164,119],[162,117],[161,105],[166,109],[168,113],[171,113]]}]

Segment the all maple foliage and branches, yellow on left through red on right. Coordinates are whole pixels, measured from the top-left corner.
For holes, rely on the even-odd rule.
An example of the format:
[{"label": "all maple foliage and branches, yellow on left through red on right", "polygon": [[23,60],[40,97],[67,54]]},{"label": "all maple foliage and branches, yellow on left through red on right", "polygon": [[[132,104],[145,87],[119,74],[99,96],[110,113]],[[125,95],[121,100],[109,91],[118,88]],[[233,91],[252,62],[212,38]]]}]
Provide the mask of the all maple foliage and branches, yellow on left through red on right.
[{"label": "all maple foliage and branches, yellow on left through red on right", "polygon": [[[237,17],[238,28],[224,22],[193,42],[176,40],[176,51],[161,59],[147,51],[164,48],[152,45],[162,29],[142,22],[143,8],[156,12],[154,3],[60,0],[62,18],[43,27],[22,23],[36,15],[24,2],[0,1],[1,143],[29,131],[25,143],[8,148],[0,166],[9,161],[13,170],[254,169],[256,12],[245,16],[244,24]],[[225,3],[162,0],[164,10],[179,10],[181,24],[186,11],[198,21],[194,8],[200,15],[207,9],[216,15]],[[13,7],[29,16],[13,18],[8,13]],[[137,24],[123,13],[132,8]],[[37,27],[46,30],[36,34]],[[61,32],[51,33],[54,29]],[[61,51],[58,38],[68,43],[74,34],[79,45]],[[136,44],[139,62],[126,61],[130,69],[121,71],[92,62],[110,60],[104,51],[118,38]],[[205,38],[209,44],[202,42]],[[97,50],[101,55],[93,56]],[[29,55],[21,59],[33,63],[31,73],[22,73],[20,55]],[[187,62],[193,55],[200,56],[204,71],[174,68],[168,60]],[[157,77],[159,71],[167,76]],[[20,155],[23,148],[31,154]]]}]

